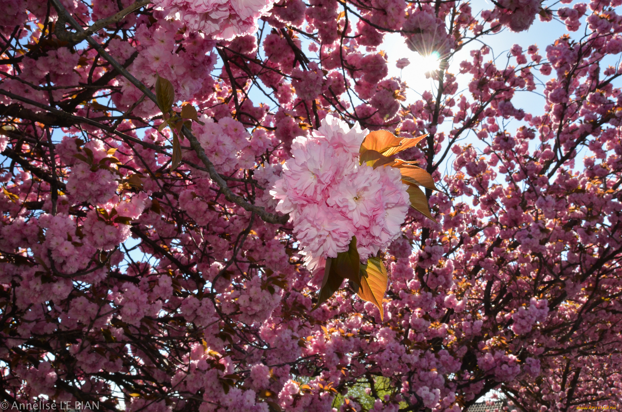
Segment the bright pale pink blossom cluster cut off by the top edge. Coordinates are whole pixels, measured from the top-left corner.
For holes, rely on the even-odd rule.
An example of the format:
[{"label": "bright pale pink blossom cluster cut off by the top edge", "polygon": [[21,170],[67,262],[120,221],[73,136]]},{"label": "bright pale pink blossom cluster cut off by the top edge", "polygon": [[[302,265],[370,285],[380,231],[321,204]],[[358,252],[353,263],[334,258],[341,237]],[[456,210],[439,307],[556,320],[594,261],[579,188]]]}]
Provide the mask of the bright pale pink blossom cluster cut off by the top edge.
[{"label": "bright pale pink blossom cluster cut off by the top edge", "polygon": [[156,7],[188,29],[213,39],[231,40],[257,31],[257,19],[270,16],[272,0],[156,0]]}]

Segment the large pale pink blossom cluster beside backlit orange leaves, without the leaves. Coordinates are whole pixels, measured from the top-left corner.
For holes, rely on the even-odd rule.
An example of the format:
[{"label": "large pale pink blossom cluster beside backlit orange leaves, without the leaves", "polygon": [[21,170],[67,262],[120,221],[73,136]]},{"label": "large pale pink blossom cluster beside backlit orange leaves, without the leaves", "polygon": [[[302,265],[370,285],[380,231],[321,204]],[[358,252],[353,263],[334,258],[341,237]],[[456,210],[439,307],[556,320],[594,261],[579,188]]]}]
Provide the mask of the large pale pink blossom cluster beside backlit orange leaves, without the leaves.
[{"label": "large pale pink blossom cluster beside backlit orange leaves, without the leaves", "polygon": [[359,165],[367,134],[358,123],[350,129],[328,115],[310,137],[294,139],[292,158],[270,192],[279,199],[276,210],[290,213],[309,269],[348,250],[352,236],[366,261],[400,235],[407,185],[398,169]]}]

